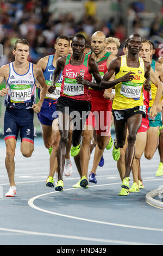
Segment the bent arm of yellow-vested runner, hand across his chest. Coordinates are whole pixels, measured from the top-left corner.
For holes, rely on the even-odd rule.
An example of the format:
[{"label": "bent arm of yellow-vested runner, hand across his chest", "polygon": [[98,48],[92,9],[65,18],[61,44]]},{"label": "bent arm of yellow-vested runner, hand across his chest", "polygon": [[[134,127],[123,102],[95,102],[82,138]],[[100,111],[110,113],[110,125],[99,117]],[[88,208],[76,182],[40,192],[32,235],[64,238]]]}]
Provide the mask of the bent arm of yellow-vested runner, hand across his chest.
[{"label": "bent arm of yellow-vested runner, hand across his chest", "polygon": [[117,74],[120,71],[120,66],[121,66],[121,57],[117,57],[116,59],[113,59],[109,65],[108,71],[105,73],[101,83],[99,84],[99,87],[103,89],[108,89],[111,87],[114,87],[117,83],[121,82],[128,82],[132,81],[134,79],[133,72],[128,72],[126,75],[114,80],[114,81],[109,81],[112,75]]}]

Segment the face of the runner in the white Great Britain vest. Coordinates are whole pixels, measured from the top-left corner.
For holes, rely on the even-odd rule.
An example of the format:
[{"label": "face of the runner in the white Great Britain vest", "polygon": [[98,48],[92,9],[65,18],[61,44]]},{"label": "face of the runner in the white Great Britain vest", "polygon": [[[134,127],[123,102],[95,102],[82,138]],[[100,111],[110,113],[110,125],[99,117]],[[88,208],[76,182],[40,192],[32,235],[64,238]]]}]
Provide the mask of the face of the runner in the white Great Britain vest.
[{"label": "face of the runner in the white Great Britain vest", "polygon": [[29,46],[18,43],[16,44],[16,50],[12,52],[15,56],[15,60],[22,63],[26,62],[29,56]]}]

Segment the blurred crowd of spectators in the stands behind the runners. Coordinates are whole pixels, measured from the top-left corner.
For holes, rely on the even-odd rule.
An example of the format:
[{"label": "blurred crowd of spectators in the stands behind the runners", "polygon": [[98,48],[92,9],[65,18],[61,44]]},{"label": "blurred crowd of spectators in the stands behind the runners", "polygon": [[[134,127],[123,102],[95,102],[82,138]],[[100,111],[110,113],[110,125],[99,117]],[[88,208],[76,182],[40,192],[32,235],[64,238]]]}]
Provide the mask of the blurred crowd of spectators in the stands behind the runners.
[{"label": "blurred crowd of spectators in the stands behind the runners", "polygon": [[[60,0],[64,1],[64,0]],[[66,1],[66,0],[65,0]],[[117,5],[122,0],[116,0]],[[147,2],[147,1],[146,1]],[[49,10],[49,0],[15,1],[0,0],[0,43],[3,45],[3,58],[0,66],[13,60],[12,45],[18,38],[26,38],[30,44],[31,62],[37,61],[54,52],[54,43],[59,35],[73,36],[83,33],[90,41],[95,31],[103,31],[106,37],[114,36],[121,41],[121,48],[127,38],[125,16],[108,17],[108,21],[98,20],[96,17],[97,1],[83,1],[84,16],[78,22],[74,19],[73,12],[55,17]],[[133,32],[143,32],[142,20],[137,15],[146,11],[145,1],[134,1],[128,6],[128,15],[135,15]],[[163,8],[160,13],[163,13]],[[151,22],[146,38],[151,35],[163,35],[163,19],[159,16]],[[140,33],[140,34],[141,34]]]}]

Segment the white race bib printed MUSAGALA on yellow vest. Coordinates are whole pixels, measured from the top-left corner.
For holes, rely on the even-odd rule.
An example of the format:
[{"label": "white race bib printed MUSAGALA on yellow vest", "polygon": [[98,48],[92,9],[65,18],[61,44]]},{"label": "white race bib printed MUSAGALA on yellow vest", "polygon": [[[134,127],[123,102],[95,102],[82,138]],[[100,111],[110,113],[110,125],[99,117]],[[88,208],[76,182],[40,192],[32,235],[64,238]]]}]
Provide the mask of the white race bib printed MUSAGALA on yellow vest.
[{"label": "white race bib printed MUSAGALA on yellow vest", "polygon": [[141,89],[142,89],[142,84],[131,84],[131,83],[122,83],[121,84],[121,92],[120,94],[131,98],[131,99],[137,99],[140,98],[141,96]]}]

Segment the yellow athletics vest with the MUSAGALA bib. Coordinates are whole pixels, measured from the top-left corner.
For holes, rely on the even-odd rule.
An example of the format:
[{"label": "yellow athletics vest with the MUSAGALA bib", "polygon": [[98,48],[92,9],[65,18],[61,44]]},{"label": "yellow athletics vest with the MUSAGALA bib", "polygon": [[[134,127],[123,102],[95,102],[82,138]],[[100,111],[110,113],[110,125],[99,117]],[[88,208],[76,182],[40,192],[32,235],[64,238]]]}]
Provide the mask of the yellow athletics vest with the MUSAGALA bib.
[{"label": "yellow athletics vest with the MUSAGALA bib", "polygon": [[120,72],[115,75],[115,79],[134,72],[134,79],[130,82],[117,83],[115,86],[115,98],[112,103],[112,109],[128,109],[137,106],[143,106],[143,82],[145,82],[145,68],[143,59],[139,58],[139,68],[127,66],[127,56],[121,56]]}]

